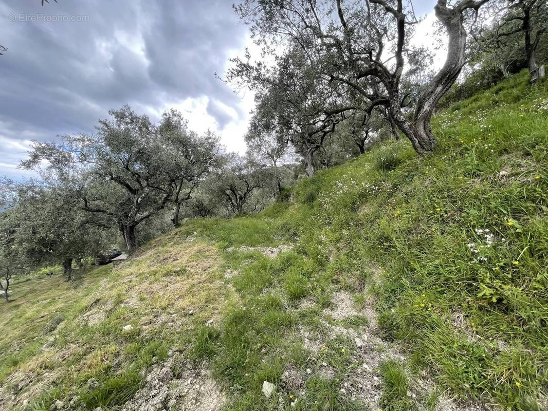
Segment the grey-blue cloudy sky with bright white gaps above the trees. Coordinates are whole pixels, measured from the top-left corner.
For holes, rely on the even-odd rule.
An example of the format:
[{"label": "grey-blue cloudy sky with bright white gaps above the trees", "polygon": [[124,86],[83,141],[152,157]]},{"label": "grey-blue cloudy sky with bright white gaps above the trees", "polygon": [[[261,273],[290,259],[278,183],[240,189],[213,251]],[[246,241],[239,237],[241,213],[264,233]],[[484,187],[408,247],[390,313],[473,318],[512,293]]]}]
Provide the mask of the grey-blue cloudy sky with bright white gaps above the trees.
[{"label": "grey-blue cloudy sky with bright white gaps above the trees", "polygon": [[[253,98],[214,76],[251,45],[232,2],[0,0],[0,175],[25,174],[17,165],[32,140],[92,132],[124,104],[155,119],[179,109],[243,152]],[[434,3],[416,0],[415,11]]]}]

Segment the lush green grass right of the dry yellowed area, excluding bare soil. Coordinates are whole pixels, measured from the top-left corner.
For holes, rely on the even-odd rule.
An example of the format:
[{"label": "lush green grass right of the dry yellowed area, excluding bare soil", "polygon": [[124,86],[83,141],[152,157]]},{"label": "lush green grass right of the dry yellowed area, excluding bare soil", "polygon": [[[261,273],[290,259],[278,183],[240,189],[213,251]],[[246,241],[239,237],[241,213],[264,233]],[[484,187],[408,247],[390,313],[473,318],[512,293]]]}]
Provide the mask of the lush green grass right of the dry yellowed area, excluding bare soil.
[{"label": "lush green grass right of the dry yellowed area, excluding bare soil", "polygon": [[[548,85],[530,86],[522,73],[438,113],[433,130],[431,155],[385,142],[301,180],[287,202],[258,216],[192,223],[228,250],[229,281],[244,295],[195,351],[230,387],[231,409],[282,400],[292,409],[361,409],[344,395],[352,358],[335,349],[336,372],[325,379],[310,368],[313,350],[299,345],[303,332],[322,332],[322,310],[341,290],[356,306],[373,301],[381,338],[407,358],[401,381],[433,384],[415,401],[410,388],[390,390],[385,364],[382,408],[433,409],[446,397],[546,407]],[[293,249],[272,260],[233,252],[241,244]],[[358,330],[361,321],[343,325]],[[337,338],[328,351],[352,352],[352,341]],[[311,371],[302,391],[283,389],[293,368]],[[262,396],[263,380],[282,387],[276,404]]]}]

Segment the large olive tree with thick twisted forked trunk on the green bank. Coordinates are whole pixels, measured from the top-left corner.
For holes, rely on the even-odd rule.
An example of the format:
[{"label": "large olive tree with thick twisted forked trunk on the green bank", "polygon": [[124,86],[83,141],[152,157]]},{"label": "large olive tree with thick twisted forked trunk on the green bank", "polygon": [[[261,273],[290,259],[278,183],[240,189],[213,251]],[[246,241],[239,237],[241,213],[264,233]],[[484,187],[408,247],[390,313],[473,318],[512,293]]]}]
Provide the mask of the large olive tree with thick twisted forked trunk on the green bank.
[{"label": "large olive tree with thick twisted forked trunk on the green bank", "polygon": [[323,75],[348,87],[363,105],[384,105],[387,114],[419,153],[433,150],[430,119],[439,99],[458,77],[465,62],[465,22],[488,0],[438,0],[435,14],[448,37],[446,61],[406,113],[403,87],[410,39],[418,20],[403,0],[244,0],[237,13],[258,42],[283,41],[307,55],[320,56]]}]

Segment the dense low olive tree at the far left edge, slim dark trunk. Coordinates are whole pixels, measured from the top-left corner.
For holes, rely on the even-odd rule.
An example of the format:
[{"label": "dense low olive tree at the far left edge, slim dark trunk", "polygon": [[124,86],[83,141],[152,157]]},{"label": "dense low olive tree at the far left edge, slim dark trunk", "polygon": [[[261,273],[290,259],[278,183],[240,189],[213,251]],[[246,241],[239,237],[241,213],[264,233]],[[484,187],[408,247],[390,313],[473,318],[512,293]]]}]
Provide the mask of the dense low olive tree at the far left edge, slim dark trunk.
[{"label": "dense low olive tree at the far left edge, slim dark trunk", "polygon": [[60,264],[70,281],[73,260],[92,255],[104,244],[109,227],[89,219],[71,187],[4,180],[2,189],[0,253],[6,259],[27,267]]}]

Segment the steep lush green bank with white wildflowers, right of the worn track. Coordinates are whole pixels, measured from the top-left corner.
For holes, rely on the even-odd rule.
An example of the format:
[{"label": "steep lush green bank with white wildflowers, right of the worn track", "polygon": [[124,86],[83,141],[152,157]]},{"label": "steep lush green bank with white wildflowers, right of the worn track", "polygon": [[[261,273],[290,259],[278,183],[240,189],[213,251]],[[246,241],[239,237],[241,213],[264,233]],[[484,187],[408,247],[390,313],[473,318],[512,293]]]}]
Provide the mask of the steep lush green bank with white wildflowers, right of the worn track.
[{"label": "steep lush green bank with white wildflowers, right of the worn track", "polygon": [[322,270],[384,273],[384,336],[442,389],[546,407],[548,87],[518,75],[433,119],[439,149],[388,142],[302,181],[284,232]]}]

